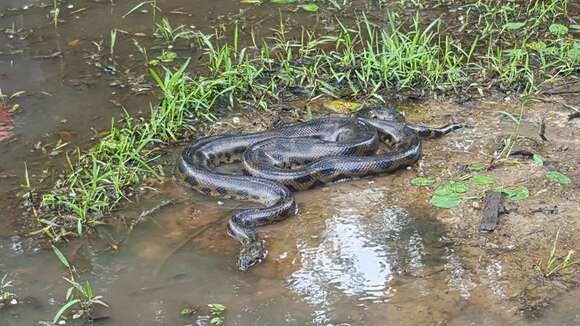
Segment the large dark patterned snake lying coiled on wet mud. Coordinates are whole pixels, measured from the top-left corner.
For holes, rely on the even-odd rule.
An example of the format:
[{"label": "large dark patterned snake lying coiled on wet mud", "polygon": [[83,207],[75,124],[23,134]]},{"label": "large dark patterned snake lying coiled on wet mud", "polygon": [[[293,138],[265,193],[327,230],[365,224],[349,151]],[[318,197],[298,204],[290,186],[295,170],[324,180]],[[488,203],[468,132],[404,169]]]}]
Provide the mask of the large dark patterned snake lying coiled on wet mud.
[{"label": "large dark patterned snake lying coiled on wet mud", "polygon": [[[241,243],[237,266],[246,271],[268,253],[257,228],[297,213],[294,192],[410,166],[422,154],[422,139],[464,127],[468,125],[413,124],[397,110],[369,106],[353,116],[202,137],[183,149],[179,170],[194,190],[205,195],[261,204],[235,212],[227,224],[228,234]],[[392,150],[379,152],[381,141]],[[217,169],[236,162],[243,167],[241,175]]]}]

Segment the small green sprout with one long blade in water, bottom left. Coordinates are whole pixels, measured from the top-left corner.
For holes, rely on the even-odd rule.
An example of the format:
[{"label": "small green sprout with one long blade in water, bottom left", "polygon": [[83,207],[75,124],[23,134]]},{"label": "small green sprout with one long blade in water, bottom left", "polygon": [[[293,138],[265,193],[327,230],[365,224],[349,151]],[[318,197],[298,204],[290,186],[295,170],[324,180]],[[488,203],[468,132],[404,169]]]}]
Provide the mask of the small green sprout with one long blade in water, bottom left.
[{"label": "small green sprout with one long blade in water, bottom left", "polygon": [[65,300],[66,303],[60,307],[52,319],[52,323],[56,324],[65,313],[74,311],[75,318],[91,318],[92,313],[97,305],[109,307],[100,295],[95,295],[93,288],[89,281],[77,281],[78,275],[76,269],[71,265],[65,255],[55,246],[52,246],[55,255],[60,262],[68,268],[69,277],[63,277],[71,286],[67,289]]}]

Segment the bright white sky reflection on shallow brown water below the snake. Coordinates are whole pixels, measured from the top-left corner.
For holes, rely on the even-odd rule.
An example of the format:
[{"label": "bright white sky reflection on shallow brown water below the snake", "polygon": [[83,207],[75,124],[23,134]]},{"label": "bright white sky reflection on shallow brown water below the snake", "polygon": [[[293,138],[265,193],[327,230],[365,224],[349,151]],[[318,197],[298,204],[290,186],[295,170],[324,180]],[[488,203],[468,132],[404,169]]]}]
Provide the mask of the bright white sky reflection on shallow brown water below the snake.
[{"label": "bright white sky reflection on shallow brown water below the snake", "polygon": [[384,205],[383,197],[382,189],[337,196],[320,238],[298,241],[301,267],[289,277],[289,288],[322,309],[315,313],[319,322],[327,322],[325,311],[344,300],[360,306],[387,302],[396,293],[396,277],[421,276],[445,263],[442,228]]}]

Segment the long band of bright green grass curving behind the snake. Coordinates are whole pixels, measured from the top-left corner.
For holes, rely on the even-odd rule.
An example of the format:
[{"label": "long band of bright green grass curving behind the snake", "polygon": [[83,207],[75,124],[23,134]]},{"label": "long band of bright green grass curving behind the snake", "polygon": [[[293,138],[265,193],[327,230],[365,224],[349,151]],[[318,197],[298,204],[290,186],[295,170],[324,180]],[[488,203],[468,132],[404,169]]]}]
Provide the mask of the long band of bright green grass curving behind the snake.
[{"label": "long band of bright green grass curving behind the snake", "polygon": [[[499,87],[533,94],[546,83],[577,74],[580,42],[553,27],[556,18],[566,15],[566,1],[516,5],[473,4],[474,12],[489,16],[475,26],[488,32],[461,39],[445,32],[448,27],[439,19],[425,24],[419,14],[406,18],[394,12],[381,24],[364,15],[352,26],[337,21],[338,31],[323,36],[302,29],[291,37],[280,23],[269,39],[250,35],[250,47],[241,46],[237,25],[227,43],[217,34],[162,20],[157,36],[166,43],[195,40],[204,49],[206,71],[188,74],[187,61],[161,74],[151,70],[164,95],[161,103],[151,107],[149,118],[125,115],[112,121],[94,147],[69,153],[66,178],[43,196],[42,206],[53,214],[39,219],[38,232],[57,240],[105,223],[102,216],[130,200],[145,179],[163,176],[156,163],[161,149],[183,140],[193,121],[211,121],[216,103],[268,110],[287,87],[304,88],[311,98],[374,102],[389,102],[402,90],[485,94]],[[542,15],[544,23],[532,24],[532,14]],[[514,21],[525,24],[505,27]]]}]

